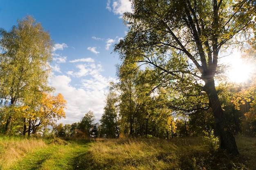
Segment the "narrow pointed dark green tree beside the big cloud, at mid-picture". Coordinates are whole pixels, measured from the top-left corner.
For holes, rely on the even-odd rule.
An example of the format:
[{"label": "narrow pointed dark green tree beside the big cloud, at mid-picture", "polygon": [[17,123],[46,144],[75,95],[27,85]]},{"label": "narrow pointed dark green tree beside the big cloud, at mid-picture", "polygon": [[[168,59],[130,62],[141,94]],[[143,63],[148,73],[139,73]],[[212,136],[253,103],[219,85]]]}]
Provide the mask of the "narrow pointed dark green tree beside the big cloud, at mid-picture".
[{"label": "narrow pointed dark green tree beside the big cloud, at mid-picture", "polygon": [[108,138],[116,138],[119,136],[119,128],[117,125],[117,94],[110,89],[106,98],[106,106],[101,116],[101,133]]}]

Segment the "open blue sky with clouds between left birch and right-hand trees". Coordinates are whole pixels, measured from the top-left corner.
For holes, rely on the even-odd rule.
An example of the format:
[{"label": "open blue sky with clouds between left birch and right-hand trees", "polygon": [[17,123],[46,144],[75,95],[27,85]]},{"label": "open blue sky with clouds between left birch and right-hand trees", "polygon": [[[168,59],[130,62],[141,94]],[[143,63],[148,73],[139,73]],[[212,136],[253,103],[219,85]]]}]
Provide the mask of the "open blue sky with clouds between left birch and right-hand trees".
[{"label": "open blue sky with clouds between left birch and right-hand trees", "polygon": [[89,110],[101,119],[108,82],[115,81],[118,54],[113,45],[128,30],[121,19],[128,0],[0,0],[0,27],[34,16],[54,40],[49,84],[67,101],[66,119],[79,122]]}]

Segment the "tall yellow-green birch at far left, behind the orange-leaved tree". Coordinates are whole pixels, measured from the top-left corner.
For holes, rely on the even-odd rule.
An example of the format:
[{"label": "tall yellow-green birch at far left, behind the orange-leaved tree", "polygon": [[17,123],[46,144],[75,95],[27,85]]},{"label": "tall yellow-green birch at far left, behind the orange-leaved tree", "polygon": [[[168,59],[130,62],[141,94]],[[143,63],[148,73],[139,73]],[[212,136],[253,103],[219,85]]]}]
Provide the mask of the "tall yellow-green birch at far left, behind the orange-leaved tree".
[{"label": "tall yellow-green birch at far left, behind the orange-leaved tree", "polygon": [[[26,16],[7,32],[0,29],[0,98],[9,106],[23,105],[32,91],[50,91],[47,85],[53,41],[34,18]],[[13,110],[6,113],[5,132],[11,130]]]}]

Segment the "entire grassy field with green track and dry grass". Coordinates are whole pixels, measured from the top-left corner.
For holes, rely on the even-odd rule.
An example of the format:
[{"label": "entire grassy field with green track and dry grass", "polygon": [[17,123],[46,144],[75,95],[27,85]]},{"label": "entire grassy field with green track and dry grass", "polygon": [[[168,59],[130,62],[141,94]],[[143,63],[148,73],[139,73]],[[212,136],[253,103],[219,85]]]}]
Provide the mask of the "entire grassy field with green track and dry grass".
[{"label": "entire grassy field with green track and dry grass", "polygon": [[239,156],[201,138],[62,139],[0,136],[0,170],[255,170],[256,138],[236,136]]}]

